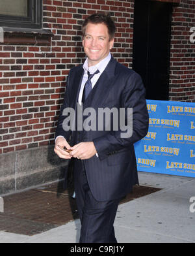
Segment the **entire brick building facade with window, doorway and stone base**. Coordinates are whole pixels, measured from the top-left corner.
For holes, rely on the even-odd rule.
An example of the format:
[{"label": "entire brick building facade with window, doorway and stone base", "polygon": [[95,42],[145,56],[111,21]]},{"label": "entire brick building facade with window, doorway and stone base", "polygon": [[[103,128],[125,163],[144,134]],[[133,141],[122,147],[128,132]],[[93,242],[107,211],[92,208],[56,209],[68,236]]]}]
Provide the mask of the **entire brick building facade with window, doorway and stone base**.
[{"label": "entire brick building facade with window, doorway and stone base", "polygon": [[195,102],[195,0],[11,2],[0,3],[0,194],[62,178],[55,127],[94,12],[116,22],[112,56],[140,73],[147,99]]}]

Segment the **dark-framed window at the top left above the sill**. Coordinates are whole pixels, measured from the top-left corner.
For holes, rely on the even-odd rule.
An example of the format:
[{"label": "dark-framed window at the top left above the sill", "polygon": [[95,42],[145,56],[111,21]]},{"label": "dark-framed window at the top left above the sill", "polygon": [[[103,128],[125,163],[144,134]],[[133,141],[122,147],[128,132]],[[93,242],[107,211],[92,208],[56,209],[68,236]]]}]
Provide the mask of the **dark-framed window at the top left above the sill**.
[{"label": "dark-framed window at the top left above the sill", "polygon": [[42,28],[42,0],[0,0],[0,26]]}]

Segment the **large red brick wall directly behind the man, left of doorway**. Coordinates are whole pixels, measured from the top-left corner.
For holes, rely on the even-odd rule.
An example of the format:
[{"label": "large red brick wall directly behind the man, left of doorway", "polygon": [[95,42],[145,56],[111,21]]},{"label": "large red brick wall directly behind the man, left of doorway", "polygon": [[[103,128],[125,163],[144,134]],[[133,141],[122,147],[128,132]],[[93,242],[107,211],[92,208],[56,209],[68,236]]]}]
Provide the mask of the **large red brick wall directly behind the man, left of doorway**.
[{"label": "large red brick wall directly behind the man, left of doorway", "polygon": [[53,144],[66,75],[83,63],[81,24],[94,12],[111,12],[117,26],[112,54],[131,67],[133,0],[44,0],[51,45],[0,45],[0,153]]}]

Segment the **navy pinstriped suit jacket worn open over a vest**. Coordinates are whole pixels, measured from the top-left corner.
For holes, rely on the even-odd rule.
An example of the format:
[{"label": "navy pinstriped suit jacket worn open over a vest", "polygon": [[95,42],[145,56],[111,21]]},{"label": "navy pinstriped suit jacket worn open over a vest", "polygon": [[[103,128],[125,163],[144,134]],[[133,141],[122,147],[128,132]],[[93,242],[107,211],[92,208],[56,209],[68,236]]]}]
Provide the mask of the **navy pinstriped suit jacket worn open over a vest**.
[{"label": "navy pinstriped suit jacket worn open over a vest", "polygon": [[[133,144],[148,132],[144,85],[135,71],[112,57],[83,104],[83,110],[89,106],[94,108],[96,113],[98,108],[133,108],[132,136],[121,138],[122,131],[114,131],[112,118],[110,131],[98,131],[98,115],[96,131],[64,131],[62,123],[66,116],[62,115],[62,111],[67,107],[76,110],[83,74],[83,65],[74,67],[69,73],[56,137],[64,136],[71,146],[81,141],[94,142],[98,157],[94,155],[90,159],[82,160],[92,195],[99,201],[117,199],[127,195],[132,186],[138,184]],[[105,128],[105,123],[103,125]]]}]

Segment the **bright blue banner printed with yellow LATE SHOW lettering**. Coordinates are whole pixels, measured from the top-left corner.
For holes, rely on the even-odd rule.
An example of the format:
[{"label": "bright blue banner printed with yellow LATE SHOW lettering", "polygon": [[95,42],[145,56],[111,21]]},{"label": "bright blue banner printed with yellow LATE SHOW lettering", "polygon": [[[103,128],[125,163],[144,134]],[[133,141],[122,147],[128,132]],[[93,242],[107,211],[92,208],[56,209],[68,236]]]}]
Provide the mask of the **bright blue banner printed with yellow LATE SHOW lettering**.
[{"label": "bright blue banner printed with yellow LATE SHOW lettering", "polygon": [[135,143],[138,171],[195,177],[195,103],[147,100],[149,130]]}]

